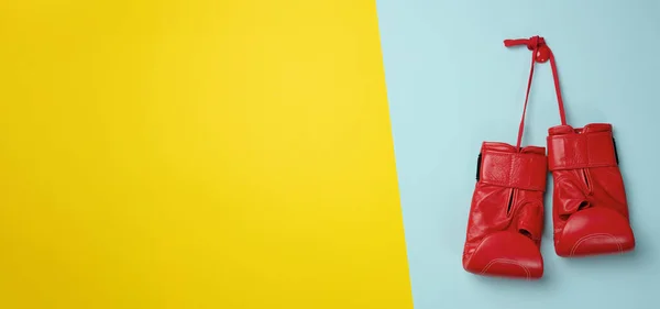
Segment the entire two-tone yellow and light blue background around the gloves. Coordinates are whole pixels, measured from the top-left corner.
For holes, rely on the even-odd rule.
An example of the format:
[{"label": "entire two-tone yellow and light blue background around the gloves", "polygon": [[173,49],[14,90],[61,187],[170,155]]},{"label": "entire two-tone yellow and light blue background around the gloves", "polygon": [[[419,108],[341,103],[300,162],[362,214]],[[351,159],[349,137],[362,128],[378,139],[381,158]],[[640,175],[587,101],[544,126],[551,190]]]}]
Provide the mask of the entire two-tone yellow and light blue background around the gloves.
[{"label": "entire two-tone yellow and light blue background around the gloves", "polygon": [[[653,308],[660,2],[0,3],[0,308]],[[529,52],[612,122],[637,251],[461,267]],[[525,144],[559,122],[538,66]],[[549,213],[550,199],[547,199]]]}]

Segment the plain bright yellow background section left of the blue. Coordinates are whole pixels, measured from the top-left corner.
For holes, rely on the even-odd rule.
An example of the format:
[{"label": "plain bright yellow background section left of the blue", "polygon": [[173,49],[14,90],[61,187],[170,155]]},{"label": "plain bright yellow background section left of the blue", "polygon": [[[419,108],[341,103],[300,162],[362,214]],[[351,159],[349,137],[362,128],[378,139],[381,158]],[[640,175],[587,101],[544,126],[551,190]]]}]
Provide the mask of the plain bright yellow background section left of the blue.
[{"label": "plain bright yellow background section left of the blue", "polygon": [[375,1],[0,2],[0,308],[411,308]]}]

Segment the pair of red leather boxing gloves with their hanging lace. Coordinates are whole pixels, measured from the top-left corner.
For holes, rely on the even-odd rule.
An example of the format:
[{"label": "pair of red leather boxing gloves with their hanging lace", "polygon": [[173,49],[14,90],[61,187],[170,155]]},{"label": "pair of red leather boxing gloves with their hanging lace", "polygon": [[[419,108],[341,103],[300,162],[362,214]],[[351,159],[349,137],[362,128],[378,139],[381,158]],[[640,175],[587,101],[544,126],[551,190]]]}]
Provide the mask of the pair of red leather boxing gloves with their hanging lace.
[{"label": "pair of red leather boxing gloves with their hanging lace", "polygon": [[[536,279],[543,275],[540,252],[547,173],[552,174],[554,251],[562,257],[631,251],[626,190],[612,124],[573,128],[565,122],[557,66],[544,40],[507,40],[527,45],[531,70],[517,145],[483,142],[463,251],[465,271],[485,276]],[[520,147],[535,63],[550,59],[561,125],[548,130],[547,148]]]}]

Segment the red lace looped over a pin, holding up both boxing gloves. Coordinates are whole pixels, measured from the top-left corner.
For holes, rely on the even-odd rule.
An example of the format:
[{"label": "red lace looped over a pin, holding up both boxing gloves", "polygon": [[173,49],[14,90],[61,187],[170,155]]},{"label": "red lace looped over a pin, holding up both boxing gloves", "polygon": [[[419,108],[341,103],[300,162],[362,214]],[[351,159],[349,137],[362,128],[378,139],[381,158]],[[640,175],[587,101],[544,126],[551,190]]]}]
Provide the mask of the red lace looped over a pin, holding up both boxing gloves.
[{"label": "red lace looped over a pin, holding up both boxing gloves", "polygon": [[516,40],[504,40],[504,46],[512,47],[518,45],[526,45],[527,49],[531,51],[531,68],[529,69],[529,79],[527,80],[527,93],[525,95],[525,107],[522,108],[522,119],[520,119],[520,128],[518,129],[518,141],[516,142],[516,148],[520,151],[520,142],[522,141],[522,131],[525,130],[525,113],[527,112],[527,101],[529,100],[529,90],[531,89],[531,78],[534,77],[534,65],[536,63],[544,63],[550,59],[550,66],[552,67],[552,78],[554,79],[554,92],[557,92],[557,101],[559,103],[559,117],[561,118],[561,124],[566,124],[566,117],[563,108],[563,100],[561,99],[561,89],[559,88],[559,74],[557,73],[557,64],[554,62],[554,55],[552,49],[546,44],[546,40],[538,35],[529,38],[516,38]]}]

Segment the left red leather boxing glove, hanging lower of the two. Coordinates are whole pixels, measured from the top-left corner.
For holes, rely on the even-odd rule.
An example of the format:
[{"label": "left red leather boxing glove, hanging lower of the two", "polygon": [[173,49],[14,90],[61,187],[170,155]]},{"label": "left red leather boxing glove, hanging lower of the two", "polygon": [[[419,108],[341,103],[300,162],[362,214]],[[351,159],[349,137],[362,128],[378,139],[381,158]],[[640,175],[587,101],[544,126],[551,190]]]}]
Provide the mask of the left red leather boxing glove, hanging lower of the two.
[{"label": "left red leather boxing glove, hanging lower of the two", "polygon": [[546,150],[527,146],[517,152],[509,144],[484,142],[481,153],[463,268],[485,276],[540,278]]}]

